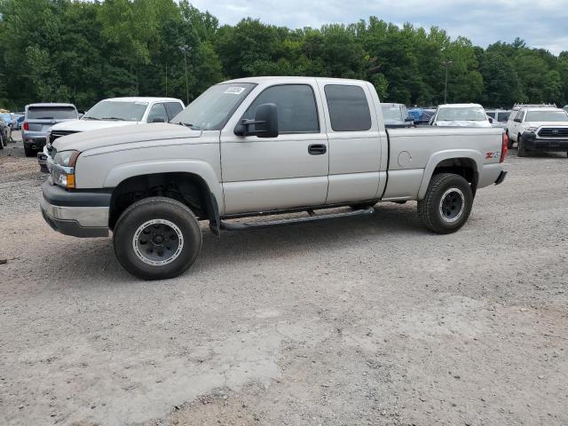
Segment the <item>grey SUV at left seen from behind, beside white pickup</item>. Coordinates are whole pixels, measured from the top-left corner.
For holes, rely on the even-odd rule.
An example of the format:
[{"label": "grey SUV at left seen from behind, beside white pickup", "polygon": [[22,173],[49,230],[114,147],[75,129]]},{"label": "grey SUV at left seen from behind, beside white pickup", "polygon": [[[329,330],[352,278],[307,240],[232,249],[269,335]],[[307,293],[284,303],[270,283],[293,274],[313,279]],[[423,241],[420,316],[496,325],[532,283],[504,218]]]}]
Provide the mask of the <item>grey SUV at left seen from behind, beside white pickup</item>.
[{"label": "grey SUV at left seen from behind, beside white pickup", "polygon": [[37,151],[43,149],[47,134],[54,124],[76,119],[77,108],[73,104],[27,105],[21,130],[26,156],[36,155]]}]

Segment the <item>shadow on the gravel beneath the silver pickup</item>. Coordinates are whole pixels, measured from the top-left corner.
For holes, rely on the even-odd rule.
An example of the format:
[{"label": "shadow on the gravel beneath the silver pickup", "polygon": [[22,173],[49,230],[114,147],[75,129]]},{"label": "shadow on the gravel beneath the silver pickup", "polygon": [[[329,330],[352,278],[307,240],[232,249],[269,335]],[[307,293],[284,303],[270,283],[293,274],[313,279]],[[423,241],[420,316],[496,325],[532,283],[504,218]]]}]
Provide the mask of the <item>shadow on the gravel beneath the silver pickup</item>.
[{"label": "shadow on the gravel beneath the silver pickup", "polygon": [[[270,217],[243,219],[248,222],[270,220]],[[368,244],[369,238],[376,235],[385,237],[385,244],[396,244],[398,239],[428,233],[418,220],[416,203],[405,205],[394,203],[378,204],[375,213],[359,217],[340,217],[312,223],[277,226],[264,229],[251,229],[238,232],[224,232],[220,237],[209,232],[205,222],[201,225],[203,246],[193,267],[175,280],[196,280],[201,273],[218,270],[220,265],[239,264],[251,260],[257,263],[281,258],[287,262],[289,256],[305,256],[321,254],[322,250],[343,250]],[[66,238],[66,237],[64,237]],[[67,239],[67,238],[66,238]],[[45,278],[51,276],[58,268],[72,267],[73,259],[84,259],[81,269],[76,271],[75,283],[67,283],[74,287],[77,281],[88,285],[92,277],[96,285],[116,286],[132,284],[140,280],[132,277],[122,269],[114,256],[111,239],[75,240],[66,242],[67,247],[75,254],[70,257],[67,250],[51,251],[49,263],[43,264],[41,270]],[[61,247],[59,245],[59,247]],[[75,265],[76,267],[76,265]],[[75,269],[75,268],[73,268]],[[63,283],[59,283],[63,285]]]}]

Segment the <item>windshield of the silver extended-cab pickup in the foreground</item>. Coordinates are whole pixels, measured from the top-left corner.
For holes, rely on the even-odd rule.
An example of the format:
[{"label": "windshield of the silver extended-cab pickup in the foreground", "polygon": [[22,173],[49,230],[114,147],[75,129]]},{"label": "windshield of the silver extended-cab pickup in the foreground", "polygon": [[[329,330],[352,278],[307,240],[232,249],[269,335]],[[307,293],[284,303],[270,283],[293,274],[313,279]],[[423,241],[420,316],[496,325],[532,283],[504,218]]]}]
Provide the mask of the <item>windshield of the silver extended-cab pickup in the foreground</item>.
[{"label": "windshield of the silver extended-cab pickup in the foreground", "polygon": [[201,130],[221,130],[253,87],[255,84],[252,83],[223,83],[211,86],[172,118],[171,122],[191,124]]}]

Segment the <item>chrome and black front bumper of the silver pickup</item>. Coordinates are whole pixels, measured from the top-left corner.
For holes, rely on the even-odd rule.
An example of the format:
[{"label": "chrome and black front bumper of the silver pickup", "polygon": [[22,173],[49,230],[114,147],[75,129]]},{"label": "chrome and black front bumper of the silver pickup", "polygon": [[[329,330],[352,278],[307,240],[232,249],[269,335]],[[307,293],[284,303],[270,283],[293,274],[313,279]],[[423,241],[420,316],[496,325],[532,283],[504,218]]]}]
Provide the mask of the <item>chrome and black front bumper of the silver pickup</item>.
[{"label": "chrome and black front bumper of the silver pickup", "polygon": [[71,192],[50,182],[43,183],[42,192],[42,215],[55,231],[82,238],[108,236],[110,192]]}]

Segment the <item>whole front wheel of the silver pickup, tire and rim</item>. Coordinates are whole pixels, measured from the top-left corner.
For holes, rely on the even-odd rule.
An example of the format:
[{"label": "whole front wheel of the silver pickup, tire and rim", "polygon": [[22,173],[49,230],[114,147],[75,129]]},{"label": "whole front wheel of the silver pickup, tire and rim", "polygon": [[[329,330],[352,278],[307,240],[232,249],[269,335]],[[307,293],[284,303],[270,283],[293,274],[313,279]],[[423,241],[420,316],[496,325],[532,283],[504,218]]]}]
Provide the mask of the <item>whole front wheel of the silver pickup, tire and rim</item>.
[{"label": "whole front wheel of the silver pickup, tire and rim", "polygon": [[167,197],[137,201],[114,225],[114,253],[143,280],[165,280],[189,268],[201,251],[201,228],[185,204]]}]

